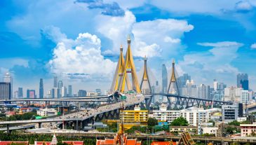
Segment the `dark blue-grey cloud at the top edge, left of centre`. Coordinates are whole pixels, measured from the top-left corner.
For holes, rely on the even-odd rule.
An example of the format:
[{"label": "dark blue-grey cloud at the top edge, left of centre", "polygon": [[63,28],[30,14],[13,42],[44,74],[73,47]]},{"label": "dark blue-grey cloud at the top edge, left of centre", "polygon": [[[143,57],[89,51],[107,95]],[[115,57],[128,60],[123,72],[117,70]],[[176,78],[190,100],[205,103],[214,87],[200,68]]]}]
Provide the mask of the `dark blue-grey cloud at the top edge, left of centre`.
[{"label": "dark blue-grey cloud at the top edge, left of centre", "polygon": [[100,8],[102,10],[102,15],[111,16],[123,16],[124,11],[120,8],[119,4],[112,2],[112,4],[104,3],[102,0],[76,0],[79,3],[88,4],[88,8]]}]

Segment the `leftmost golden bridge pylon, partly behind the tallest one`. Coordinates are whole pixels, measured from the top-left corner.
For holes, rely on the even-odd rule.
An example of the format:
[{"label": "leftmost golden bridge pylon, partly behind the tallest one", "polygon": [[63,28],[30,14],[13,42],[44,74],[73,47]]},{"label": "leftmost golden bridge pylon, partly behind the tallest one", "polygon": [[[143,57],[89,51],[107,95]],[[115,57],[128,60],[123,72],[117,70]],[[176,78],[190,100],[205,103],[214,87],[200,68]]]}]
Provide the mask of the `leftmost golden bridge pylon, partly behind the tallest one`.
[{"label": "leftmost golden bridge pylon, partly behind the tallest one", "polygon": [[[121,76],[123,76],[123,65],[124,65],[123,46],[120,46],[119,62],[117,62],[117,65],[116,65],[116,71],[115,71],[112,85],[110,88],[111,92],[114,92],[119,89],[119,81],[121,80],[120,79]],[[128,76],[126,76],[126,86],[127,86],[128,90],[131,89],[130,80],[129,80]]]}]

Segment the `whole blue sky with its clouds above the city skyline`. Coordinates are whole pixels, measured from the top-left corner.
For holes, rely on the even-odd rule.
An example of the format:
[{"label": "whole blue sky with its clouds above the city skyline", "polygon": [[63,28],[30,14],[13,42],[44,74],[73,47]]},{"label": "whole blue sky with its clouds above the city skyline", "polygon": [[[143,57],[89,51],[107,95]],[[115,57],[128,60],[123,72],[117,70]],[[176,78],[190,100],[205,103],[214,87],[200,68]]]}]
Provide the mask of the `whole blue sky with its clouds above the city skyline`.
[{"label": "whole blue sky with its clouds above the city skyline", "polygon": [[256,82],[256,1],[252,0],[2,0],[0,73],[14,89],[46,89],[53,75],[76,90],[107,90],[119,46],[132,38],[135,66],[142,57],[161,81],[161,64],[188,73],[197,84],[236,85],[236,74]]}]

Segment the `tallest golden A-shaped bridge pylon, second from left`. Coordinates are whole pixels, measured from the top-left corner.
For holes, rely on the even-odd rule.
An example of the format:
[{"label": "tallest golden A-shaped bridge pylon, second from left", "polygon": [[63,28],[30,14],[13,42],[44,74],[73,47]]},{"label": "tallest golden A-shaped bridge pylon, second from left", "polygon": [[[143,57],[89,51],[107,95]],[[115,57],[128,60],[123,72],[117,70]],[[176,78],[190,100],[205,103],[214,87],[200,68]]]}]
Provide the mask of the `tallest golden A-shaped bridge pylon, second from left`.
[{"label": "tallest golden A-shaped bridge pylon, second from left", "polygon": [[[126,59],[123,64],[122,76],[120,77],[119,86],[118,86],[119,92],[123,92],[125,90],[126,77],[128,77],[128,73],[130,73],[132,76],[133,90],[140,93],[141,92],[140,85],[137,81],[137,74],[136,74],[136,69],[135,69],[135,65],[133,62],[132,50],[130,49],[130,36],[128,36],[127,43],[128,43],[128,48],[127,48],[127,52],[126,52]],[[129,90],[129,88],[128,88],[128,90]]]}]

